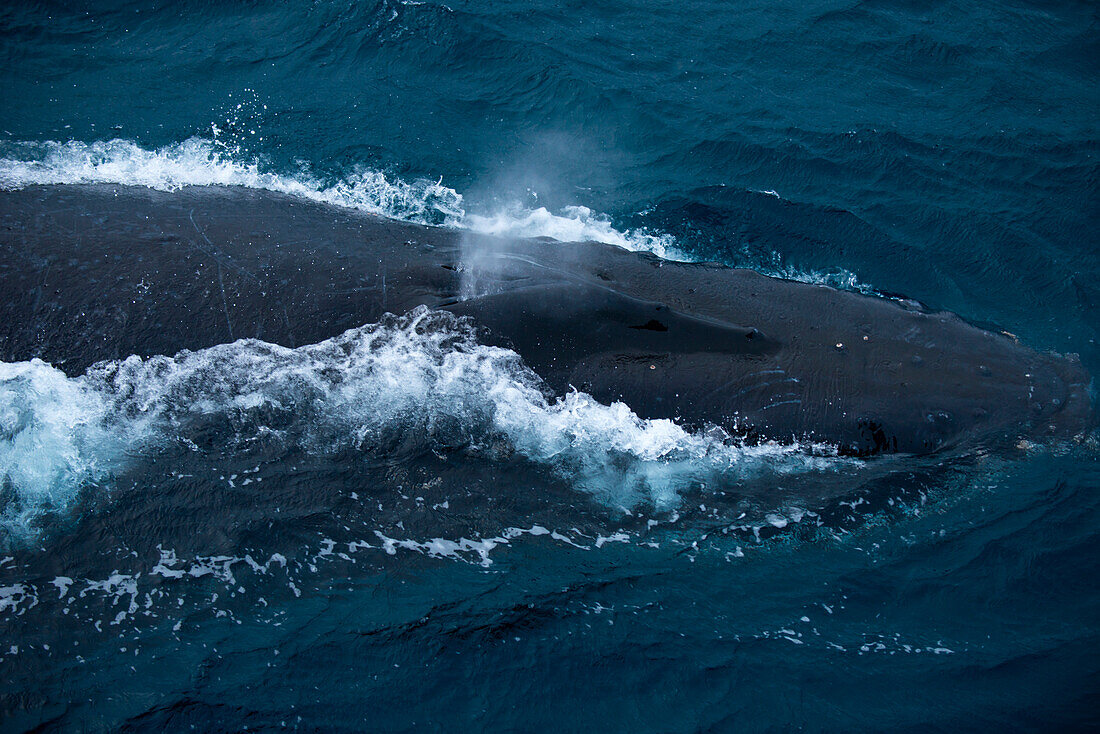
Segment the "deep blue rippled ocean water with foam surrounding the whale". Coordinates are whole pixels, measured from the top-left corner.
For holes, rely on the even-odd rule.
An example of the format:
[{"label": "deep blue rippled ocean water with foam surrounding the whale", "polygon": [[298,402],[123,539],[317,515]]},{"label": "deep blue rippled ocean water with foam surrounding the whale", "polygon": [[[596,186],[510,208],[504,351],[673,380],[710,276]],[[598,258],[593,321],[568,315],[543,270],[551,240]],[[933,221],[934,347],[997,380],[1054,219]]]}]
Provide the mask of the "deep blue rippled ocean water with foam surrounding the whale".
[{"label": "deep blue rippled ocean water with foam surrounding the whale", "polygon": [[[904,296],[1097,374],[1098,24],[15,1],[0,188],[596,240]],[[0,727],[1096,728],[1098,490],[1094,437],[858,461],[550,401],[425,311],[0,363]]]}]

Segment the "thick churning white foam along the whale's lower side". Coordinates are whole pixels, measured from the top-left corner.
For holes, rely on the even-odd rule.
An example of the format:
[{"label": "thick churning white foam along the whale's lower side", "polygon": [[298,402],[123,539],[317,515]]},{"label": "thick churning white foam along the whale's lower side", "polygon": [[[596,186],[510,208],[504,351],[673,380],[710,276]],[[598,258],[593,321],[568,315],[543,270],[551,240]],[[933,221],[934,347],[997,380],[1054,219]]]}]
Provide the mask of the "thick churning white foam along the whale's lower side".
[{"label": "thick churning white foam along the whale's lower side", "polygon": [[22,507],[6,518],[9,528],[123,470],[128,456],[189,443],[196,430],[219,431],[230,449],[262,436],[320,454],[352,449],[386,459],[503,449],[615,507],[669,507],[704,482],[847,463],[822,447],[730,445],[721,431],[642,419],[585,393],[550,401],[518,354],[477,343],[464,321],[424,307],[297,349],[245,339],[105,362],[75,379],[38,361],[0,363],[0,482]]}]

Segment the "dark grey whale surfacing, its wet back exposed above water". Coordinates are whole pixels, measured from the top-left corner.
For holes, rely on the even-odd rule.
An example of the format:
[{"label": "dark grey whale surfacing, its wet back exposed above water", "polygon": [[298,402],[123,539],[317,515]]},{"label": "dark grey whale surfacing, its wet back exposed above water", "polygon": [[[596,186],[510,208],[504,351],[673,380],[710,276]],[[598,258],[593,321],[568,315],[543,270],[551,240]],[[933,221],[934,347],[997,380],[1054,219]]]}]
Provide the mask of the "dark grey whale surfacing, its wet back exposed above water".
[{"label": "dark grey whale surfacing, its wet back exposed above water", "polygon": [[242,338],[321,341],[417,306],[641,417],[843,453],[1068,437],[1090,379],[957,316],[612,245],[505,240],[244,188],[0,193],[0,359],[70,375]]}]

